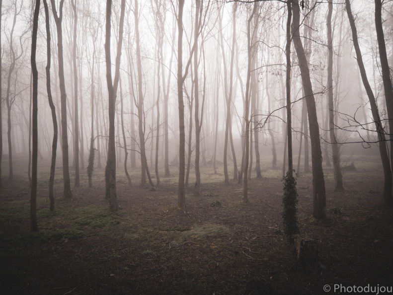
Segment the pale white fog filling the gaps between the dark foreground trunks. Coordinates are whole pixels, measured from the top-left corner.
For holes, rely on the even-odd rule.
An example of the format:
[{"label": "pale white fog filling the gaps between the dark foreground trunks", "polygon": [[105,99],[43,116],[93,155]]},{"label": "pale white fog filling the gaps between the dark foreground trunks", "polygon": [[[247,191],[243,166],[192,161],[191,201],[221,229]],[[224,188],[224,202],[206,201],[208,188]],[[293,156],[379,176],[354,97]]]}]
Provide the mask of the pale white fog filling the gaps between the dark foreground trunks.
[{"label": "pale white fog filling the gaps between the dark foreground trunks", "polygon": [[[49,3],[51,34],[51,90],[59,126],[56,166],[62,167],[62,130],[59,88],[59,56],[57,31]],[[79,165],[85,173],[90,143],[95,150],[95,166],[104,166],[108,153],[109,117],[108,88],[105,64],[105,5],[102,2],[77,0],[75,12],[71,1],[63,6],[63,55],[67,107],[68,152],[70,171]],[[52,5],[51,5],[52,4]],[[119,86],[115,100],[116,161],[123,166],[125,152],[129,169],[140,169],[141,154],[146,156],[150,173],[157,166],[178,169],[179,162],[179,105],[177,84],[178,65],[178,3],[151,0],[138,3],[126,1],[123,43],[119,68]],[[352,43],[351,28],[345,5],[334,3],[332,12],[332,91],[333,125],[342,161],[354,151],[378,154],[378,133],[375,131],[370,104],[359,73]],[[379,114],[385,130],[388,128],[386,103],[373,11],[367,1],[353,3],[353,15],[365,69],[375,94]],[[389,61],[392,55],[391,15],[389,3],[384,5],[385,42]],[[388,7],[389,6],[389,7]],[[185,120],[186,168],[198,162],[216,169],[216,162],[241,169],[245,135],[250,142],[250,165],[259,166],[260,157],[283,161],[286,145],[286,15],[287,7],[280,1],[253,3],[203,1],[198,4],[199,22],[195,22],[196,3],[186,2],[183,11],[182,71]],[[135,11],[137,8],[137,16]],[[326,15],[323,3],[307,2],[301,7],[300,35],[309,62],[316,104],[323,161],[329,161],[332,149],[328,124],[328,52]],[[3,1],[1,49],[1,131],[2,177],[12,179],[12,160],[30,157],[32,80],[29,62],[33,6],[27,1]],[[112,3],[111,72],[115,76],[115,60],[119,41],[120,1]],[[247,23],[250,38],[247,41]],[[195,29],[195,26],[198,29]],[[138,28],[137,28],[138,26]],[[74,31],[75,29],[75,31]],[[138,31],[138,32],[137,32]],[[74,40],[76,33],[76,40]],[[137,42],[137,33],[138,39]],[[195,39],[197,36],[197,39]],[[198,42],[195,42],[198,40]],[[247,42],[250,44],[247,50]],[[38,19],[38,165],[47,165],[52,154],[53,123],[46,91],[47,65],[44,7]],[[73,48],[75,44],[76,56]],[[197,44],[195,46],[195,44]],[[197,52],[197,53],[195,53]],[[196,56],[196,59],[195,59]],[[250,58],[250,68],[247,59]],[[305,92],[302,87],[298,57],[291,49],[291,110],[294,161],[300,155],[302,165],[308,161],[310,146]],[[73,64],[75,62],[75,65]],[[195,64],[196,62],[196,64]],[[247,86],[247,71],[250,80]],[[195,79],[195,75],[198,75]],[[77,77],[75,78],[75,75]],[[198,82],[196,84],[196,82]],[[196,86],[198,85],[198,86]],[[198,87],[197,92],[195,87]],[[249,88],[247,90],[247,87]],[[198,93],[198,95],[197,95]],[[248,97],[246,94],[248,93]],[[197,95],[197,97],[196,97]],[[197,101],[198,100],[198,101]],[[249,111],[245,113],[248,101]],[[76,106],[77,102],[77,107]],[[196,104],[197,105],[197,110]],[[229,104],[229,108],[227,108]],[[77,113],[76,113],[77,111]],[[159,114],[159,119],[158,118]],[[195,115],[197,114],[197,118]],[[227,117],[229,119],[227,120]],[[78,118],[76,120],[76,118]],[[121,119],[123,118],[123,119]],[[245,122],[249,118],[249,130]],[[197,119],[197,120],[196,120]],[[200,128],[196,128],[196,122]],[[76,125],[77,124],[77,125]],[[306,127],[306,129],[304,128]],[[196,143],[197,130],[199,144]],[[78,131],[76,140],[75,133]],[[141,137],[141,131],[143,136]],[[306,140],[304,140],[306,138]],[[91,141],[92,140],[92,141]],[[144,140],[145,147],[141,146]],[[158,144],[157,144],[158,141]],[[226,147],[226,141],[228,147]],[[167,144],[165,144],[167,142]],[[301,149],[300,143],[303,143]],[[76,153],[78,143],[79,153]],[[255,144],[256,143],[256,144]],[[199,146],[199,147],[196,147]],[[306,153],[305,154],[305,148]],[[143,150],[144,149],[144,150]],[[257,149],[257,150],[255,150]],[[301,150],[300,150],[301,149]],[[156,153],[157,150],[157,153]],[[300,150],[300,153],[299,153]],[[311,150],[310,150],[311,153]],[[76,160],[75,155],[79,154]],[[189,156],[190,155],[190,156]],[[303,163],[306,155],[306,162]],[[200,156],[200,159],[199,159]],[[46,159],[46,162],[44,161]],[[311,156],[310,156],[311,159]],[[227,163],[228,160],[228,163]],[[76,163],[77,162],[77,163]],[[45,163],[45,164],[43,164]],[[76,164],[78,164],[76,166]],[[277,163],[272,158],[272,166]],[[27,167],[26,167],[27,169]],[[257,168],[260,169],[260,168]],[[283,171],[285,171],[283,167]],[[295,172],[301,173],[295,165]],[[215,170],[216,171],[216,170]],[[251,171],[251,170],[250,170]],[[253,170],[252,170],[253,171]],[[27,172],[27,170],[26,170]],[[143,172],[142,172],[143,173]],[[162,173],[162,172],[159,172]],[[187,177],[190,172],[187,172]],[[193,172],[191,172],[193,173]],[[252,172],[254,173],[254,172]],[[258,172],[257,172],[258,175]],[[284,176],[284,172],[283,172]],[[224,179],[223,179],[224,180]],[[144,180],[142,180],[144,184]]]}]

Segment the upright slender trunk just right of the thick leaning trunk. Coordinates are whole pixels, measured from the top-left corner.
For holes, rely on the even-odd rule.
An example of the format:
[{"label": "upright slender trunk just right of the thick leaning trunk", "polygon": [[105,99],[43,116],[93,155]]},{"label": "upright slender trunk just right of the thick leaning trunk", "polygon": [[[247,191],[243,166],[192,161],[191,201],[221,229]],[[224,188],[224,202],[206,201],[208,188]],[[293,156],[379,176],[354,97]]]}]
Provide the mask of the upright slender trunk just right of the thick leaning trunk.
[{"label": "upright slender trunk just right of the thick leaning trunk", "polygon": [[334,107],[333,107],[333,39],[331,33],[331,15],[333,12],[333,3],[329,2],[327,12],[327,46],[329,49],[327,58],[327,96],[329,104],[329,134],[333,154],[333,169],[336,190],[344,189],[342,184],[342,174],[340,168],[340,150],[336,140],[335,124],[334,124]]}]

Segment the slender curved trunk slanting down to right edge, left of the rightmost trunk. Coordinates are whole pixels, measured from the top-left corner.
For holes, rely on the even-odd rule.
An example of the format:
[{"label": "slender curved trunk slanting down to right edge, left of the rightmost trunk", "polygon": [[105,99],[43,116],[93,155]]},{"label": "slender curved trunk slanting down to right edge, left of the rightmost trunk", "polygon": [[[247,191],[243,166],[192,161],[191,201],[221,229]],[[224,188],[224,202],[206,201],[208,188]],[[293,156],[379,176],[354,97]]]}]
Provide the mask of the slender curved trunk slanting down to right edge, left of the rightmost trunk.
[{"label": "slender curved trunk slanting down to right edge, left of the rightmost trunk", "polygon": [[377,130],[378,141],[379,141],[378,146],[380,149],[382,166],[384,169],[384,200],[387,204],[391,205],[393,203],[393,199],[392,199],[392,170],[391,170],[391,167],[389,164],[390,161],[389,161],[388,149],[386,146],[385,130],[383,128],[383,124],[381,122],[381,117],[378,112],[377,102],[375,100],[374,93],[371,90],[371,86],[370,86],[370,83],[368,81],[367,74],[366,74],[366,69],[363,64],[363,57],[362,57],[362,53],[360,52],[360,46],[359,46],[359,41],[358,41],[358,33],[356,30],[356,26],[355,26],[355,20],[353,19],[353,16],[352,16],[351,3],[349,0],[345,0],[345,7],[346,7],[347,14],[348,14],[349,24],[351,26],[353,46],[354,46],[355,52],[356,52],[356,60],[358,62],[359,71],[360,71],[360,75],[362,77],[364,88],[366,89],[367,96],[370,101],[371,113],[373,115],[375,127]]}]

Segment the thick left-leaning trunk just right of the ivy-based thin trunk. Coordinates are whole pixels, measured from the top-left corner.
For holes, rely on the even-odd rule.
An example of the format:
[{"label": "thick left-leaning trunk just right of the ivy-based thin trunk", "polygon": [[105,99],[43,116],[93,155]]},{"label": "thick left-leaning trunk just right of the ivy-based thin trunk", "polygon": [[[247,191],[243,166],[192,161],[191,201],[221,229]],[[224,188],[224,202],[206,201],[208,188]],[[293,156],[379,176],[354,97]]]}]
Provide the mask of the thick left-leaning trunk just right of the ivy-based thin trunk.
[{"label": "thick left-leaning trunk just right of the ivy-based thin trunk", "polygon": [[326,195],[325,195],[325,180],[322,169],[322,152],[319,140],[319,126],[316,116],[316,107],[313,86],[310,78],[310,69],[308,67],[306,54],[300,38],[300,7],[299,1],[292,2],[292,40],[295,46],[296,54],[298,56],[300,72],[302,76],[302,84],[306,96],[307,112],[309,115],[310,126],[310,141],[311,141],[311,156],[313,163],[313,195],[314,195],[314,211],[313,216],[316,219],[321,219],[326,215]]}]

